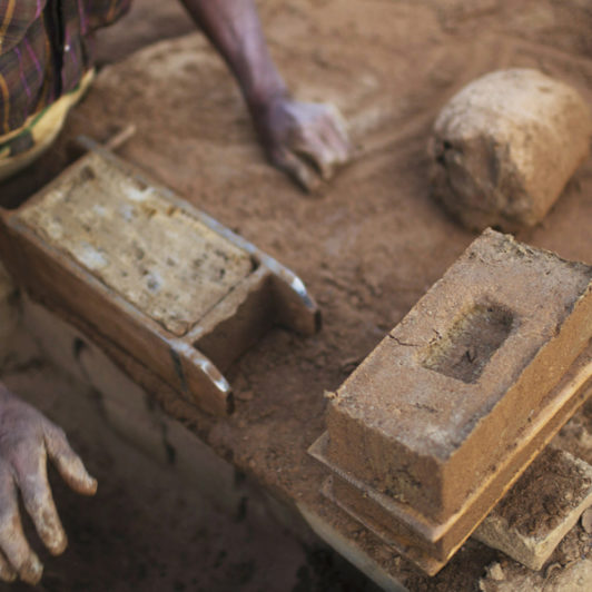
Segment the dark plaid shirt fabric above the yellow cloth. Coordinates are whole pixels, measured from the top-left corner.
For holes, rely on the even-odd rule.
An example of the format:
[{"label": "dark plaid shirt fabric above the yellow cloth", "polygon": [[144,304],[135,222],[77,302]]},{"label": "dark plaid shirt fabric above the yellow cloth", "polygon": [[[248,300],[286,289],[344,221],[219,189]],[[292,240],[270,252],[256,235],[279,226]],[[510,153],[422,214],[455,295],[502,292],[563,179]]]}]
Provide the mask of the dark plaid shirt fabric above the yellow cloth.
[{"label": "dark plaid shirt fabric above the yellow cloth", "polygon": [[77,87],[92,33],[131,0],[0,0],[0,136]]}]

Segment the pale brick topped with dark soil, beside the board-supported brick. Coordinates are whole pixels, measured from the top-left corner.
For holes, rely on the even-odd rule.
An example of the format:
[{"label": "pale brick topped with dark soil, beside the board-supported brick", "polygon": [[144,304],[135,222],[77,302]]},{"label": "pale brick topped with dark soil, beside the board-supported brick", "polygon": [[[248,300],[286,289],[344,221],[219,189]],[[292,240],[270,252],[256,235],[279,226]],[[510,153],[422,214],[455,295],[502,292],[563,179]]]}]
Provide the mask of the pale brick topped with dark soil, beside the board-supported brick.
[{"label": "pale brick topped with dark soil, beside the board-supported brick", "polygon": [[592,505],[592,466],[547,447],[473,536],[539,571]]}]

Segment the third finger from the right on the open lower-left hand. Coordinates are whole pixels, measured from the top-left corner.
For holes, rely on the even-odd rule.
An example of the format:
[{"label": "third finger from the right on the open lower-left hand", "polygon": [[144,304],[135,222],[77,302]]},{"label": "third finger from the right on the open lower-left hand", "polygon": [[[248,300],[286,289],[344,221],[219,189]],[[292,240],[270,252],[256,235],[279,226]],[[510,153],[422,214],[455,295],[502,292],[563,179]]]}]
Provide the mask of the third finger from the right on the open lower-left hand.
[{"label": "third finger from the right on the open lower-left hand", "polygon": [[24,539],[14,483],[6,465],[0,466],[0,550],[9,564],[4,565],[2,574],[10,578],[12,566],[12,571],[29,584],[41,580],[43,566]]}]

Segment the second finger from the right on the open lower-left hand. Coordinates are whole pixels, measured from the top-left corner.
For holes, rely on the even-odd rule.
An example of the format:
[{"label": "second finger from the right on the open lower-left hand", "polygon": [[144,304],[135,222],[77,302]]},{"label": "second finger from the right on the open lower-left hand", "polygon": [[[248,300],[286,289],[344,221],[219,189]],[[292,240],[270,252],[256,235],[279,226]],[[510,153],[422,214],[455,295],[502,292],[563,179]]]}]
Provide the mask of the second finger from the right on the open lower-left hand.
[{"label": "second finger from the right on the open lower-left hand", "polygon": [[68,539],[47,478],[45,448],[34,454],[28,452],[17,454],[13,468],[24,507],[34,523],[39,537],[53,555],[59,555],[68,546]]}]

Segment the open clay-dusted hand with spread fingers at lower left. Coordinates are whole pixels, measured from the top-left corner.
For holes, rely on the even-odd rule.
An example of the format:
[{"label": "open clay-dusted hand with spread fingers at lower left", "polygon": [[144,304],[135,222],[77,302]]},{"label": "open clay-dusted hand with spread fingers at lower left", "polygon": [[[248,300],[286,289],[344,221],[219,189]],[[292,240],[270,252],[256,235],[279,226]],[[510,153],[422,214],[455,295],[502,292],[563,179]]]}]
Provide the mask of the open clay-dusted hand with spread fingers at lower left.
[{"label": "open clay-dusted hand with spread fingers at lower left", "polygon": [[22,532],[17,490],[37,532],[58,555],[68,540],[51,495],[47,457],[72,490],[97,491],[97,481],[70,448],[63,431],[0,384],[0,579],[34,584],[43,566]]}]

